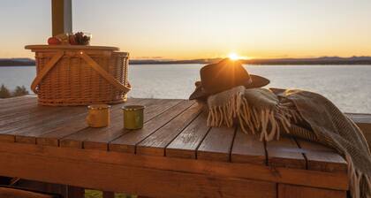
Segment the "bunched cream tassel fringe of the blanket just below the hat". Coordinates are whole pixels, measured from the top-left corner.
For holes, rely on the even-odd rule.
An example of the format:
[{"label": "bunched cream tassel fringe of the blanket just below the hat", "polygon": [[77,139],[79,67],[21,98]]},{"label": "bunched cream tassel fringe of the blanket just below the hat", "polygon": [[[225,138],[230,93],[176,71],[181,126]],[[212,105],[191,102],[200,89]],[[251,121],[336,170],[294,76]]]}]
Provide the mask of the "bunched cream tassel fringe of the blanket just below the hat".
[{"label": "bunched cream tassel fringe of the blanket just below the hat", "polygon": [[209,107],[208,126],[233,126],[233,120],[239,121],[239,126],[244,133],[261,133],[261,141],[279,139],[280,126],[284,132],[290,133],[291,120],[297,122],[302,118],[299,112],[288,108],[291,103],[279,104],[273,110],[258,110],[247,102],[241,92],[231,96],[230,101],[221,106]]}]

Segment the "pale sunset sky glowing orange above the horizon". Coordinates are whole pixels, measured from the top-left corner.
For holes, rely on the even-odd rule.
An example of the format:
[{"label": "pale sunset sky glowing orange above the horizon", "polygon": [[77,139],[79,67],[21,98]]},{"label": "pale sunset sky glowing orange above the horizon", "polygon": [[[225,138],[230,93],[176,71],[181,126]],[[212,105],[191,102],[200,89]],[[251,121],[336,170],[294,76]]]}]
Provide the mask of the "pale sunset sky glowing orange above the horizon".
[{"label": "pale sunset sky glowing orange above the horizon", "polygon": [[[51,0],[0,1],[0,57],[34,57]],[[72,0],[74,31],[132,58],[371,56],[370,0]]]}]

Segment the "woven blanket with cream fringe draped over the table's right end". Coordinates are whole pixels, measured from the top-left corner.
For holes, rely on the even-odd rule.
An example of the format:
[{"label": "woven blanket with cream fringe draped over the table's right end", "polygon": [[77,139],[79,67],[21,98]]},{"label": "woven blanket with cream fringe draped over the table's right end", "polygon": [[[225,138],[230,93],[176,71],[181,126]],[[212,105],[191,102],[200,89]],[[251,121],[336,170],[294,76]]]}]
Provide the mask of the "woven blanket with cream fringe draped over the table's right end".
[{"label": "woven blanket with cream fringe draped over the table's right end", "polygon": [[231,88],[208,97],[208,126],[239,123],[261,141],[291,133],[322,143],[345,157],[353,198],[371,197],[371,154],[352,120],[327,98],[312,92],[284,89]]}]

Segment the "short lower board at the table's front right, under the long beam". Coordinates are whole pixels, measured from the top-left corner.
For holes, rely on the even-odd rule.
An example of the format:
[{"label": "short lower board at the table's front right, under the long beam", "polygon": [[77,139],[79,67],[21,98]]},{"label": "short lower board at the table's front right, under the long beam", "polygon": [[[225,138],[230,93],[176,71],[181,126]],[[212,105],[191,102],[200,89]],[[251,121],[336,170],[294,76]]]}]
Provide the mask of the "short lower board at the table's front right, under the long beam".
[{"label": "short lower board at the table's front right, under the long beam", "polygon": [[346,191],[278,184],[278,198],[345,198]]}]

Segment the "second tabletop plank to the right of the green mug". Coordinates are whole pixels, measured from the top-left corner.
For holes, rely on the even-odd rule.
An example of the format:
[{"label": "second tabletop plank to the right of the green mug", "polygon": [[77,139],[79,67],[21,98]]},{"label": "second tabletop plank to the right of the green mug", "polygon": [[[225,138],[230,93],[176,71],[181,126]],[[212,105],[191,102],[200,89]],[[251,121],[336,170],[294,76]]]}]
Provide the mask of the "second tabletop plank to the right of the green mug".
[{"label": "second tabletop plank to the right of the green mug", "polygon": [[196,118],[202,110],[200,103],[194,103],[169,123],[152,133],[136,146],[139,155],[165,156],[165,148],[177,135]]}]

